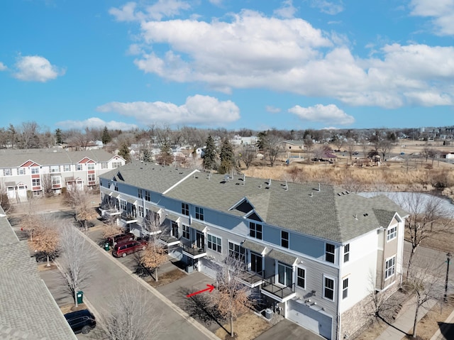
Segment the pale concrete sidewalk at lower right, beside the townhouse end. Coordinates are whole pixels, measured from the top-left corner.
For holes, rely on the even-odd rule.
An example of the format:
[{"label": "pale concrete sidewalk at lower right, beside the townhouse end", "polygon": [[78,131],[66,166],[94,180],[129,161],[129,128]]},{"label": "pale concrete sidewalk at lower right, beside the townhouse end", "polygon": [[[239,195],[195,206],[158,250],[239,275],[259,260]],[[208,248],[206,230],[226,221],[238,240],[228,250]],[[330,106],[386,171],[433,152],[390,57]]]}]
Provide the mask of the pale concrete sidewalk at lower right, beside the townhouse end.
[{"label": "pale concrete sidewalk at lower right, beside the townhouse end", "polygon": [[[388,326],[383,333],[378,336],[375,340],[402,340],[407,332],[411,333],[414,325],[414,314],[416,311],[416,304],[414,303],[414,297],[405,302],[408,306],[399,314],[399,317],[393,322],[391,326]],[[435,301],[430,300],[426,302],[423,307],[419,308],[418,321],[422,319],[424,315],[436,304]],[[443,338],[441,338],[443,339]]]}]

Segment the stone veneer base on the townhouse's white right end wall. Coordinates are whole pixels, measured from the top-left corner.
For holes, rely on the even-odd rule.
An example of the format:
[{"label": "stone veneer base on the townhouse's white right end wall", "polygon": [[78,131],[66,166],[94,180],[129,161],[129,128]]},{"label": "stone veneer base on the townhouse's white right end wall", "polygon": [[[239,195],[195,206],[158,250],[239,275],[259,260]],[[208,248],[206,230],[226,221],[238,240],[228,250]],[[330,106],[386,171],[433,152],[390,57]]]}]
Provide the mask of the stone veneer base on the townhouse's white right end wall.
[{"label": "stone veneer base on the townhouse's white right end wall", "polygon": [[[396,283],[387,290],[378,292],[377,294],[385,295],[385,298],[388,299],[398,289],[399,285]],[[369,325],[373,321],[374,312],[375,305],[370,295],[343,312],[341,315],[340,339],[347,339],[344,337],[345,335],[348,335],[348,339],[355,339],[355,336],[358,336],[362,331],[362,327]]]}]

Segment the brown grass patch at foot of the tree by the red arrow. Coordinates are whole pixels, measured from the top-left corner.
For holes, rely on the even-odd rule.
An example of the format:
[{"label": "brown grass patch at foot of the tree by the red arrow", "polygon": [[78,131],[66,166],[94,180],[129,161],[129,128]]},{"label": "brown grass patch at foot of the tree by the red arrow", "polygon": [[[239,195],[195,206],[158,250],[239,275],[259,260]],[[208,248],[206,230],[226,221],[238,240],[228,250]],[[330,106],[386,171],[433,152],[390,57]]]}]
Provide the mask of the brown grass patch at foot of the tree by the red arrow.
[{"label": "brown grass patch at foot of the tree by the red arrow", "polygon": [[228,340],[251,340],[262,334],[264,331],[269,329],[271,324],[253,312],[248,312],[236,319],[233,322],[233,332],[237,334],[235,338],[232,338],[227,331],[230,331],[230,323],[223,324],[223,327],[219,327],[216,331],[216,336],[219,339]]}]

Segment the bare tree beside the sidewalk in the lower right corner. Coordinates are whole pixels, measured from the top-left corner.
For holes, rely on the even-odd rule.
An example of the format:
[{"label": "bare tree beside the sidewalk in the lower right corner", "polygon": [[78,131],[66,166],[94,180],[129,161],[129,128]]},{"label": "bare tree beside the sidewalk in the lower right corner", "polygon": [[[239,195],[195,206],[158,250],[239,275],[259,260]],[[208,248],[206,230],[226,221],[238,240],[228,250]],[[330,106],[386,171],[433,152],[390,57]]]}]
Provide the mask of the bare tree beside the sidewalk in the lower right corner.
[{"label": "bare tree beside the sidewalk in the lower right corner", "polygon": [[441,270],[440,266],[433,265],[433,263],[428,261],[422,264],[418,263],[418,265],[411,268],[406,277],[404,287],[414,294],[414,303],[416,305],[412,334],[414,338],[416,338],[417,334],[419,310],[424,308],[424,305],[429,300],[440,301],[443,298],[443,278],[440,275],[443,270]]}]

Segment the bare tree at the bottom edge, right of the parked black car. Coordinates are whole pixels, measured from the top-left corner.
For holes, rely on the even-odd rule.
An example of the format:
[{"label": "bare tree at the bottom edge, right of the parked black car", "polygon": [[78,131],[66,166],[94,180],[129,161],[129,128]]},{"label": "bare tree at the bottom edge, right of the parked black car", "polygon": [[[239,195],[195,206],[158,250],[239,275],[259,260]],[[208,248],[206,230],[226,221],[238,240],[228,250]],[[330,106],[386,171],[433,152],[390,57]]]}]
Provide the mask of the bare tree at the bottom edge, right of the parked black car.
[{"label": "bare tree at the bottom edge, right of the parked black car", "polygon": [[155,339],[162,331],[161,314],[138,283],[121,285],[109,307],[101,312],[101,324],[111,340]]}]

